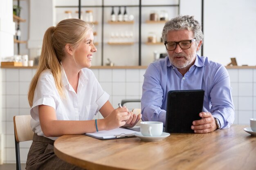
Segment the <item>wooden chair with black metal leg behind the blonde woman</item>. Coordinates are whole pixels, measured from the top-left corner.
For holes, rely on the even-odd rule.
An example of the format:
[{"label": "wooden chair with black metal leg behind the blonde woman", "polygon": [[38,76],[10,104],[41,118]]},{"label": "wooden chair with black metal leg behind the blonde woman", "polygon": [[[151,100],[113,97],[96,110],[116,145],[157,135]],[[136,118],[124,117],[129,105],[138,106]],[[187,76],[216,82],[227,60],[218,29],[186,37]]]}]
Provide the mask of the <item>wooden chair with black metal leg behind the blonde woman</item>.
[{"label": "wooden chair with black metal leg behind the blonde woman", "polygon": [[33,140],[34,132],[30,127],[31,115],[20,115],[13,117],[15,152],[16,152],[16,170],[21,170],[20,166],[20,145],[22,141]]}]

